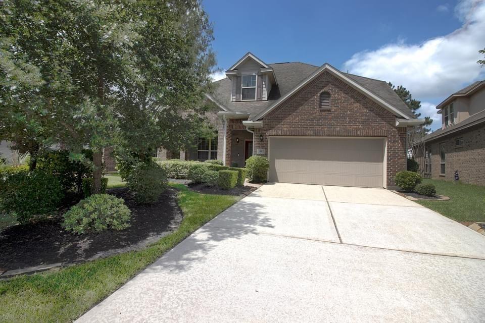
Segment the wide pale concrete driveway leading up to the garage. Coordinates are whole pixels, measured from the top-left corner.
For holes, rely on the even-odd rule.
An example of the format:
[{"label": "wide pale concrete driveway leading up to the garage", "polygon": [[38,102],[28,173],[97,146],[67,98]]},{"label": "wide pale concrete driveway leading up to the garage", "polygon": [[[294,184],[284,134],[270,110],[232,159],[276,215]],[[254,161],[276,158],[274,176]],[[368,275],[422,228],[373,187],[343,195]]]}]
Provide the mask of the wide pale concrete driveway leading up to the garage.
[{"label": "wide pale concrete driveway leading up to the garage", "polygon": [[485,237],[384,189],[267,184],[79,322],[485,317]]}]

